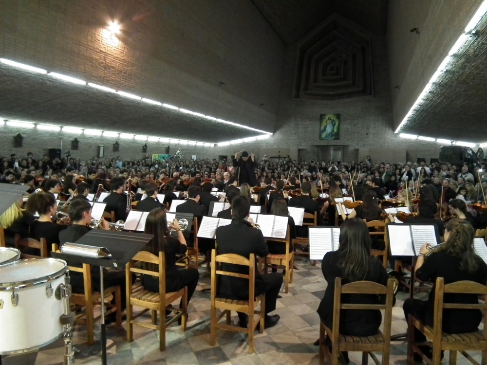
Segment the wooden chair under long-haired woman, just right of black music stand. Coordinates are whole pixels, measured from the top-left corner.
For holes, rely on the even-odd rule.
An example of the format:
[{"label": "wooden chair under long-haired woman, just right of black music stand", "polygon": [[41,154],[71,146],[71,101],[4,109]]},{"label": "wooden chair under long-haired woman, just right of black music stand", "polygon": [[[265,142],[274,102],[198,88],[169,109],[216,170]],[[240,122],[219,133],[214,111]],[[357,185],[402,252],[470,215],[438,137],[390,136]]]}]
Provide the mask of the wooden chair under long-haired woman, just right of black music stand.
[{"label": "wooden chair under long-haired woman, just right of black music stand", "polygon": [[[158,265],[158,271],[143,270],[134,267],[135,261]],[[181,327],[186,331],[187,322],[187,287],[178,292],[166,292],[166,256],[159,252],[155,256],[147,251],[141,251],[133,257],[126,266],[127,272],[127,341],[133,341],[133,325],[159,330],[159,350],[166,349],[166,328],[181,318]],[[159,292],[145,290],[142,283],[133,286],[132,273],[147,274],[159,277]],[[166,321],[166,308],[175,300],[181,298],[183,308],[173,309],[177,314]],[[142,307],[140,313],[133,315],[133,306]],[[151,312],[152,323],[136,321],[144,313]],[[159,311],[159,325],[157,325],[157,311]]]}]

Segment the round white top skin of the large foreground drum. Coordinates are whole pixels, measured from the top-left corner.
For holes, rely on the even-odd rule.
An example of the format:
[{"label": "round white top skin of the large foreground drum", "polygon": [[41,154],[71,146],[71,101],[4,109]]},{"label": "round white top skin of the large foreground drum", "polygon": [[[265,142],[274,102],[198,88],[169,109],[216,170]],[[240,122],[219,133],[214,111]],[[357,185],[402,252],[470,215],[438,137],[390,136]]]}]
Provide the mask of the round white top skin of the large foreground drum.
[{"label": "round white top skin of the large foreground drum", "polygon": [[66,261],[58,258],[36,258],[3,265],[0,290],[20,288],[56,279],[68,271]]}]

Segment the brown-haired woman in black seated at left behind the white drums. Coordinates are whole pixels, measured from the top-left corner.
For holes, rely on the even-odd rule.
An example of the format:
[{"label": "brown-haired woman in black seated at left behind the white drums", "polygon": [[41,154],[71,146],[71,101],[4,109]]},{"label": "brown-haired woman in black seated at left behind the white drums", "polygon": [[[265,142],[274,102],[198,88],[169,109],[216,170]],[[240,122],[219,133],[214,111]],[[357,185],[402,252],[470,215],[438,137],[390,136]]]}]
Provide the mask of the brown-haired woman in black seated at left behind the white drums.
[{"label": "brown-haired woman in black seated at left behind the white drums", "polygon": [[[45,238],[47,243],[47,251],[51,252],[52,244],[59,244],[59,232],[68,228],[67,225],[57,224],[51,220],[51,217],[56,216],[56,199],[52,194],[41,191],[32,194],[29,197],[26,208],[27,211],[31,213],[37,212],[39,214],[39,218],[34,220],[29,227],[30,237],[37,239],[37,241],[40,241],[41,238]],[[31,255],[40,256],[40,250],[30,247],[28,249],[29,250],[23,252]]]}]

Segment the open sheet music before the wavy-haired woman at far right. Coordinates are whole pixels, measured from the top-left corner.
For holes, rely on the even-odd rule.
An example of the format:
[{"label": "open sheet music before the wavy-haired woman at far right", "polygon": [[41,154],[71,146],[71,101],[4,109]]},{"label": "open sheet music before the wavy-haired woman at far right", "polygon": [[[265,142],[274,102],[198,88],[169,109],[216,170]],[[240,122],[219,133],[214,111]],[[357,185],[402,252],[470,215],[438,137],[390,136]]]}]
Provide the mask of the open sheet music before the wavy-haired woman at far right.
[{"label": "open sheet music before the wavy-haired woman at far right", "polygon": [[431,224],[388,223],[386,231],[389,238],[391,256],[417,256],[421,246],[430,243],[436,246],[436,232]]}]

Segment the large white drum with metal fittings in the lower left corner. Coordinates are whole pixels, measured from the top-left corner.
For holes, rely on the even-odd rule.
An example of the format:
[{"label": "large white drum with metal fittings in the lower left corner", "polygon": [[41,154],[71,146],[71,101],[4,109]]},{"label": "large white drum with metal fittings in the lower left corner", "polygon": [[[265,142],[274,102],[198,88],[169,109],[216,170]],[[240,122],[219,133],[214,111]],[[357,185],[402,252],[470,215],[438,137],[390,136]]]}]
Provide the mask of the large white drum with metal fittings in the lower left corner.
[{"label": "large white drum with metal fittings in the lower left corner", "polygon": [[0,355],[32,351],[63,334],[63,302],[56,289],[66,284],[67,272],[66,262],[56,258],[0,267]]}]

